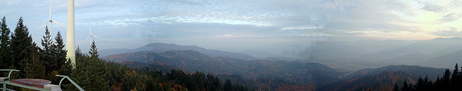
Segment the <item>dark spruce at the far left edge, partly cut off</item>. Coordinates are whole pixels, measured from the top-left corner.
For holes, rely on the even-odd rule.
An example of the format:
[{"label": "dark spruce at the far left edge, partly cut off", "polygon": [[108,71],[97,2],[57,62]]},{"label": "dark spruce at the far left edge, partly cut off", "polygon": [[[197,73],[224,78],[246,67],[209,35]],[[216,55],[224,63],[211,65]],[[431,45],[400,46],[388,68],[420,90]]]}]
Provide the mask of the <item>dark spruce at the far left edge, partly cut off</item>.
[{"label": "dark spruce at the far left edge, partly cut off", "polygon": [[10,28],[7,26],[7,20],[3,17],[0,21],[0,69],[8,69],[13,63],[10,49]]}]

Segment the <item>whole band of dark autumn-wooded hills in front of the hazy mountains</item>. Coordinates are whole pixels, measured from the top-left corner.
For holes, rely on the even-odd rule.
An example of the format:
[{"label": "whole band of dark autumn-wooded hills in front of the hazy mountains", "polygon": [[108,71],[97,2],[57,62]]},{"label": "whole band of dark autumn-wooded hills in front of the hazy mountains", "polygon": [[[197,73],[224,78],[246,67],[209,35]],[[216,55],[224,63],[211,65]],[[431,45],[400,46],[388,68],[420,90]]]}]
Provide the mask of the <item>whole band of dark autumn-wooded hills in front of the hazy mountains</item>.
[{"label": "whole band of dark autumn-wooded hills in front of the hazy mountains", "polygon": [[434,80],[444,72],[442,68],[389,65],[361,69],[343,76],[341,72],[319,63],[244,61],[229,57],[212,57],[194,50],[171,50],[161,53],[143,51],[111,55],[103,59],[137,68],[228,74],[227,77],[237,77],[248,83],[248,86],[268,90],[278,87],[303,87],[300,84],[315,84],[311,86],[316,86],[316,90],[389,90],[395,82],[407,80],[409,83],[415,83],[419,76],[428,76]]}]

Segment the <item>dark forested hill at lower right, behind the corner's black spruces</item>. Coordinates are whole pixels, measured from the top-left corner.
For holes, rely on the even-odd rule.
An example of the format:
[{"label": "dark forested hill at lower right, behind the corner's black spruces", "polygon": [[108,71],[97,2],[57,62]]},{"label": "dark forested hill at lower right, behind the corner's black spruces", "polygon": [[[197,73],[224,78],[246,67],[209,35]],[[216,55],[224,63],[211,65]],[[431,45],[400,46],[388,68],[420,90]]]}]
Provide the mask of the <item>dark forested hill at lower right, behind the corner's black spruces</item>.
[{"label": "dark forested hill at lower right, behind the corner's black spruces", "polygon": [[381,68],[358,70],[342,81],[317,87],[316,90],[391,90],[395,82],[399,85],[404,80],[415,83],[420,76],[428,76],[429,79],[435,80],[443,72],[444,69],[438,68],[389,65]]}]

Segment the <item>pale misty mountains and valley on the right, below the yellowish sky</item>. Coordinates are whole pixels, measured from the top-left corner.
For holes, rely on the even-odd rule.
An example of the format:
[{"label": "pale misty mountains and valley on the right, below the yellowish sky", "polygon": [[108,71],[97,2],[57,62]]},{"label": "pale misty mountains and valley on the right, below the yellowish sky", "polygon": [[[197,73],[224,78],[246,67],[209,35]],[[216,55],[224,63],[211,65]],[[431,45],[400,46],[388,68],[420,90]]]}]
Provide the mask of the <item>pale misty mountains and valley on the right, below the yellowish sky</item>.
[{"label": "pale misty mountains and valley on the right, below the yellowish sky", "polygon": [[319,62],[350,72],[399,64],[452,68],[454,63],[462,63],[458,60],[462,56],[461,50],[460,37],[422,41],[321,41],[310,48],[308,62]]}]

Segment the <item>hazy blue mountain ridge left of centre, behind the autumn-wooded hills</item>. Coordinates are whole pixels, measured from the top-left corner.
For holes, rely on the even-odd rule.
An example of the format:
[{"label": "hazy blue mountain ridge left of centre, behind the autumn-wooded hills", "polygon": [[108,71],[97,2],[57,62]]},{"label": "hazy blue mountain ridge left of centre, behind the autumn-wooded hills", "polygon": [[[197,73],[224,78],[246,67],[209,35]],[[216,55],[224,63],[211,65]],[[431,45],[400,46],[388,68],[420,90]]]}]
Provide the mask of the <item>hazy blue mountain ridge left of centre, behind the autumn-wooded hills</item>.
[{"label": "hazy blue mountain ridge left of centre, behind the autumn-wooded hills", "polygon": [[[109,56],[114,54],[121,54],[121,53],[133,53],[133,52],[141,52],[141,51],[149,51],[149,52],[157,52],[162,53],[170,50],[194,50],[212,57],[231,57],[236,59],[242,60],[288,60],[288,61],[295,61],[299,59],[288,58],[288,57],[267,57],[267,58],[257,58],[250,56],[248,54],[242,53],[234,53],[234,52],[226,52],[226,51],[219,51],[219,50],[209,50],[201,47],[197,47],[196,45],[177,45],[177,44],[167,44],[167,43],[151,43],[147,44],[143,47],[136,48],[136,49],[106,49],[99,51],[100,56]],[[264,53],[264,52],[257,52],[257,51],[247,51],[249,53]],[[268,55],[269,53],[264,53],[264,55]],[[270,54],[269,54],[270,55]]]}]

